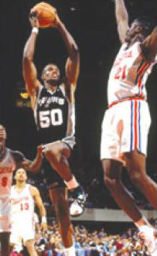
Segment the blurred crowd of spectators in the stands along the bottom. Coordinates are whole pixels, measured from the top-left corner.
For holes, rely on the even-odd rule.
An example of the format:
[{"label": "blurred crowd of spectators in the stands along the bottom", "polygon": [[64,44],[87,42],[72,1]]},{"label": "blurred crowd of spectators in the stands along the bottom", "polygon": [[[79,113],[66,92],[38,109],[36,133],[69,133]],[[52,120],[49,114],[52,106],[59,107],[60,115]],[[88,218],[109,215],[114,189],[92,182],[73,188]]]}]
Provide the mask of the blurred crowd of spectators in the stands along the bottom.
[{"label": "blurred crowd of spectators in the stands along the bottom", "polygon": [[[138,230],[130,227],[122,234],[107,234],[104,227],[92,229],[74,225],[77,256],[150,256]],[[58,227],[53,220],[46,234],[36,233],[36,249],[39,256],[64,256]],[[20,251],[20,248],[15,250]],[[14,252],[12,256],[27,256],[26,251]]]}]

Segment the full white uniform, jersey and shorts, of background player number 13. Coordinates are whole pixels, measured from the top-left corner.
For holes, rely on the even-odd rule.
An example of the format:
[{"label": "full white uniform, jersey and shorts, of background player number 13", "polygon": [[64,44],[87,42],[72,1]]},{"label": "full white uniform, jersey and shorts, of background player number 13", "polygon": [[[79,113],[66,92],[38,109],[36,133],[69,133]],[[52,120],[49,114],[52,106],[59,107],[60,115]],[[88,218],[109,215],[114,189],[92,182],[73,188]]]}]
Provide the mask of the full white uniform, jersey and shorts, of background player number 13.
[{"label": "full white uniform, jersey and shorts, of background player number 13", "polygon": [[19,193],[16,186],[12,186],[12,233],[11,244],[22,244],[35,237],[34,221],[34,199],[32,197],[30,185]]}]

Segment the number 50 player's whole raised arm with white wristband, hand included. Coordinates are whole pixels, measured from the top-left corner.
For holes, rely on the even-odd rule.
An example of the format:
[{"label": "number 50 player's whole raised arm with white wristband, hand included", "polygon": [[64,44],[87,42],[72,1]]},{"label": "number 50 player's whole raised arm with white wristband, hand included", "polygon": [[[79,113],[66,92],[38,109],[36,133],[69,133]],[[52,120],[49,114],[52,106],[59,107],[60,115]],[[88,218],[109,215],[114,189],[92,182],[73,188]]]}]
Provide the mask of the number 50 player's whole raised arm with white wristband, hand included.
[{"label": "number 50 player's whole raised arm with white wristband, hand included", "polygon": [[[36,66],[33,63],[33,56],[36,47],[36,37],[39,32],[37,18],[34,17],[30,19],[32,25],[32,32],[29,36],[29,39],[26,42],[24,51],[23,51],[23,59],[22,59],[22,70],[23,77],[26,82],[26,90],[29,93],[29,96],[36,98],[36,91],[39,89],[40,82],[37,79],[37,70]],[[32,102],[33,107],[33,102]]]}]

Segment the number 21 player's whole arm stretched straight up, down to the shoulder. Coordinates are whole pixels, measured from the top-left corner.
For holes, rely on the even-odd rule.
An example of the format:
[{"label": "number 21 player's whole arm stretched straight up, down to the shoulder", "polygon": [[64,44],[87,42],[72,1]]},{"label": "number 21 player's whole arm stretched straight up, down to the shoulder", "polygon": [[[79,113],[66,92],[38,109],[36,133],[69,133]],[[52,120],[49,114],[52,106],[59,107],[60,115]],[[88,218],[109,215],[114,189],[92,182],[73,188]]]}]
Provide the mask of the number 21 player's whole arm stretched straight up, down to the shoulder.
[{"label": "number 21 player's whole arm stretched straight up, down to the shoulder", "polygon": [[121,43],[124,43],[126,32],[128,31],[128,12],[124,0],[114,0],[114,3],[119,39]]}]

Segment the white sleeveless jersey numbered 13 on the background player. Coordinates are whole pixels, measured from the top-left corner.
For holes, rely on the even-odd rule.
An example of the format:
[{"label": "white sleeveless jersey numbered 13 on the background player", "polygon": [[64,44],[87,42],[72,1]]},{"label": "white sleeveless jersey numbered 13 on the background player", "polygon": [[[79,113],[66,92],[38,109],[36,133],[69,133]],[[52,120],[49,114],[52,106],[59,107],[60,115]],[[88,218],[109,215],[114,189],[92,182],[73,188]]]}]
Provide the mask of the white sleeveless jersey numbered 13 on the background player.
[{"label": "white sleeveless jersey numbered 13 on the background player", "polygon": [[34,222],[34,199],[30,185],[19,193],[16,186],[11,189],[12,224],[26,224]]}]

